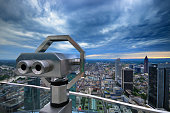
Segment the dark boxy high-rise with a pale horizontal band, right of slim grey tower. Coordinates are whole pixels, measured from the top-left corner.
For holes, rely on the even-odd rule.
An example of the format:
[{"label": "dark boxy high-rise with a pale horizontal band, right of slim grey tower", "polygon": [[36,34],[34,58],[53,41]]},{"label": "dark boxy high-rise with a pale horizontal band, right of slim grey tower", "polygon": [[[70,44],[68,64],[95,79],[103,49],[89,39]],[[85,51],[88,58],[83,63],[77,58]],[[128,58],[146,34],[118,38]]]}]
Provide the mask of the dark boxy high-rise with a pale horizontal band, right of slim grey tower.
[{"label": "dark boxy high-rise with a pale horizontal band, right of slim grey tower", "polygon": [[125,90],[133,90],[133,70],[122,69],[122,88]]}]

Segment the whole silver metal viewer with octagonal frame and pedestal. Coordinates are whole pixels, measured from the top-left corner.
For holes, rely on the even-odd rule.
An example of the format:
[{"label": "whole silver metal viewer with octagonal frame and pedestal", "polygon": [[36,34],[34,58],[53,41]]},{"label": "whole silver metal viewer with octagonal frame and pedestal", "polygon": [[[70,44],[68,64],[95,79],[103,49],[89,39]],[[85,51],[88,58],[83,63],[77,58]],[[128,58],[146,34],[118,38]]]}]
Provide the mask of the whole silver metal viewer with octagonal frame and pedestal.
[{"label": "whole silver metal viewer with octagonal frame and pedestal", "polygon": [[[80,57],[62,53],[44,53],[56,41],[69,41],[80,52]],[[41,80],[50,87],[51,102],[42,112],[65,112],[63,107],[67,109],[67,113],[72,110],[72,106],[66,107],[71,103],[68,98],[68,89],[84,75],[84,51],[70,36],[48,36],[35,53],[20,54],[16,63],[17,75],[41,77]],[[68,83],[67,75],[75,71],[76,65],[80,66],[79,74]],[[48,82],[45,77],[51,77],[53,80]]]}]

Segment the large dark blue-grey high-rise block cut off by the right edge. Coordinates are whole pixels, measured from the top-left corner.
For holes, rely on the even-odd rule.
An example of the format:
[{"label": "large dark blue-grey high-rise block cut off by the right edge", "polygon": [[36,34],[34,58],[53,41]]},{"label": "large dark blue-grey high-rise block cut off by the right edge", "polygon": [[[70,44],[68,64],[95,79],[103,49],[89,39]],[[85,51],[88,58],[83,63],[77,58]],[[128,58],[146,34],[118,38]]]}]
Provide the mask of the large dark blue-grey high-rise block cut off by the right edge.
[{"label": "large dark blue-grey high-rise block cut off by the right edge", "polygon": [[170,64],[149,66],[148,104],[170,110]]}]

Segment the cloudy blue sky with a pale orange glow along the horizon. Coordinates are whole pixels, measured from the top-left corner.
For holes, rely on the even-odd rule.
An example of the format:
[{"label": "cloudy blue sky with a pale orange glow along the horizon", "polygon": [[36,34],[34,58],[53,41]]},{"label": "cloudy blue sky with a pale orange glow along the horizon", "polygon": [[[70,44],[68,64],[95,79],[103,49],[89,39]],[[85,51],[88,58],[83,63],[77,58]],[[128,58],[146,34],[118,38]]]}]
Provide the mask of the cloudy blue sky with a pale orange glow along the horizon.
[{"label": "cloudy blue sky with a pale orange glow along the horizon", "polygon": [[49,35],[70,35],[89,59],[170,58],[170,0],[0,0],[0,59],[34,52]]}]

